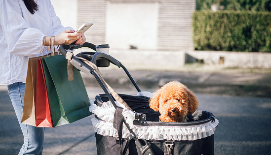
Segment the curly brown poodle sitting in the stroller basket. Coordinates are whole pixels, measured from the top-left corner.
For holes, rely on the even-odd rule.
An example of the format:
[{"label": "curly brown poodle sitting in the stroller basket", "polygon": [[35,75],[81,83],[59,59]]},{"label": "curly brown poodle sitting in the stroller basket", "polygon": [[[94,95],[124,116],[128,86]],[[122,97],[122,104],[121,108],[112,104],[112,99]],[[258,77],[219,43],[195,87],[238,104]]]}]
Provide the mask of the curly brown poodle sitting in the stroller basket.
[{"label": "curly brown poodle sitting in the stroller basket", "polygon": [[150,107],[161,114],[161,122],[186,122],[185,116],[193,114],[197,106],[198,98],[177,81],[165,84],[150,99]]}]

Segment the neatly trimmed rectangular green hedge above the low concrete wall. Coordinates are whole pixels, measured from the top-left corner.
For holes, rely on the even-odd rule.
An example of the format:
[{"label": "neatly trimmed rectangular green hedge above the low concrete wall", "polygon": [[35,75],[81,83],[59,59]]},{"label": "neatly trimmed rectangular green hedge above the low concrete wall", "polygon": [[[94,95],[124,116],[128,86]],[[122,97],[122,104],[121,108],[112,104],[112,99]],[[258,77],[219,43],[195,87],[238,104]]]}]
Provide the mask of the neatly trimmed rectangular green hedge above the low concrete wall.
[{"label": "neatly trimmed rectangular green hedge above the low concrete wall", "polygon": [[193,39],[195,50],[271,52],[271,12],[195,11]]}]

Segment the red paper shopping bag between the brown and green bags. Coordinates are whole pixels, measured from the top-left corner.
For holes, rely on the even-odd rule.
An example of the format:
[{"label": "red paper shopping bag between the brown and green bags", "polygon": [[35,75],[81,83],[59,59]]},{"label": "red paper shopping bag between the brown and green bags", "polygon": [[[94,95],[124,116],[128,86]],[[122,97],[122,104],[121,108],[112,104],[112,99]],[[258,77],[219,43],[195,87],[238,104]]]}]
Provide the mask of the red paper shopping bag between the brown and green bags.
[{"label": "red paper shopping bag between the brown and green bags", "polygon": [[37,59],[36,126],[53,127],[46,81],[41,59]]}]

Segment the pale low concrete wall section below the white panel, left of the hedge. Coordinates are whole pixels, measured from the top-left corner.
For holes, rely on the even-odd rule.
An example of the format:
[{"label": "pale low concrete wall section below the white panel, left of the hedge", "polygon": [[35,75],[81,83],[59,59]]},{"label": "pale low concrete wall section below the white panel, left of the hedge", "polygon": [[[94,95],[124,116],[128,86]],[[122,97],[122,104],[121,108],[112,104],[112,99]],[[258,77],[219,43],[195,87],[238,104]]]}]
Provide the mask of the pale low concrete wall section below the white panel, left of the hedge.
[{"label": "pale low concrete wall section below the white panel, left of the hedge", "polygon": [[130,69],[178,70],[185,64],[184,51],[110,49],[109,55]]}]

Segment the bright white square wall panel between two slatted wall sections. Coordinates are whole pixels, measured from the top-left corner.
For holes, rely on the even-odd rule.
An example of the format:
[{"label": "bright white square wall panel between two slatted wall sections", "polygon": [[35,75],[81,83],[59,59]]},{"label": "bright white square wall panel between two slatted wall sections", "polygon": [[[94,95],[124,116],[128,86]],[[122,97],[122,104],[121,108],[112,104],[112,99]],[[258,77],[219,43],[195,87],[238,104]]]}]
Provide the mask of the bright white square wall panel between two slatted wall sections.
[{"label": "bright white square wall panel between two slatted wall sections", "polygon": [[157,2],[107,3],[106,42],[111,47],[157,48]]}]

